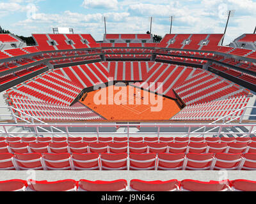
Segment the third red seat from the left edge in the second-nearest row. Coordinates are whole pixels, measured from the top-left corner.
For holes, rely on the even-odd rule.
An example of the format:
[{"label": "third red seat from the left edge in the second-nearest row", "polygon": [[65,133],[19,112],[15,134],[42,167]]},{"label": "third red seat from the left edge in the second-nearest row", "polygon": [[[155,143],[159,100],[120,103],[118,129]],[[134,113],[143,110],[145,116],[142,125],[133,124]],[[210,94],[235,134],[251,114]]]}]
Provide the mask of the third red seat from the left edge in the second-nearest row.
[{"label": "third red seat from the left edge in the second-nearest row", "polygon": [[43,161],[47,170],[71,170],[70,154],[68,153],[45,153]]}]

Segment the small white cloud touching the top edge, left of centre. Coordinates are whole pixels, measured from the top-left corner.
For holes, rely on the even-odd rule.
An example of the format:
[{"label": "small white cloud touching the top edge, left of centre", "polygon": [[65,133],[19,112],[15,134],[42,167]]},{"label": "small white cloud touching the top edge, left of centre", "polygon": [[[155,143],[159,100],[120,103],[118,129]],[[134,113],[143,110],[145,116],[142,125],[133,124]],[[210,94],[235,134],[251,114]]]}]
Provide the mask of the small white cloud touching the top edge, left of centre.
[{"label": "small white cloud touching the top edge, left of centre", "polygon": [[105,8],[116,10],[118,6],[117,0],[84,0],[82,6],[84,8]]}]

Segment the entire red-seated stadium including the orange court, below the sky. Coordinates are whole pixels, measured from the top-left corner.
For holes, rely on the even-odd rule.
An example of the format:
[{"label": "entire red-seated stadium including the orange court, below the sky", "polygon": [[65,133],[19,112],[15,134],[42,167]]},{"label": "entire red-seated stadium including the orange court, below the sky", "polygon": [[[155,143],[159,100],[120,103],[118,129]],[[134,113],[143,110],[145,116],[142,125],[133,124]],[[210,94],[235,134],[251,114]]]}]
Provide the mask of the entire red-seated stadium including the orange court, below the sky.
[{"label": "entire red-seated stadium including the orange court, below the sky", "polygon": [[32,37],[0,34],[0,191],[256,191],[255,33]]}]

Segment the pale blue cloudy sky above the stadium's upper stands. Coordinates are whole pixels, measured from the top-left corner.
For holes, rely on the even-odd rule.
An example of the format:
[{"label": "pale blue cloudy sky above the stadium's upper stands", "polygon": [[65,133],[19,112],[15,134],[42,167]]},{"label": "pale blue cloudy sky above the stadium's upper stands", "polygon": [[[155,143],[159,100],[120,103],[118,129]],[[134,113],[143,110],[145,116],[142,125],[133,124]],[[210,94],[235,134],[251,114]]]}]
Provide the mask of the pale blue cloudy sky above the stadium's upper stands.
[{"label": "pale blue cloudy sky above the stadium's upper stands", "polygon": [[146,33],[153,17],[152,33],[223,33],[227,10],[235,10],[225,44],[243,33],[252,33],[256,0],[0,0],[0,22],[12,33],[52,33],[52,27],[72,27],[102,40],[106,16],[108,33]]}]

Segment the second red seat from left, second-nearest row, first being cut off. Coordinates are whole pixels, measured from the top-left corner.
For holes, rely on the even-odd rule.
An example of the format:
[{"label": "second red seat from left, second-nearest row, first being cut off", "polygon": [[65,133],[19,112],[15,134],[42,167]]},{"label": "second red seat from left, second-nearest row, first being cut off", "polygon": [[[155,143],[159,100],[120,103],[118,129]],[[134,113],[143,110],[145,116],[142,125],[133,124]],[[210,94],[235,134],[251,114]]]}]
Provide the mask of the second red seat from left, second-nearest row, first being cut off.
[{"label": "second red seat from left, second-nearest row, first being cut off", "polygon": [[15,154],[14,158],[19,170],[44,170],[42,155],[39,153]]}]

